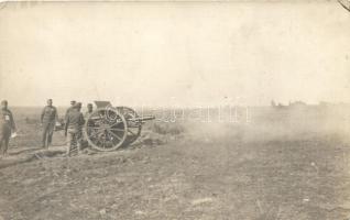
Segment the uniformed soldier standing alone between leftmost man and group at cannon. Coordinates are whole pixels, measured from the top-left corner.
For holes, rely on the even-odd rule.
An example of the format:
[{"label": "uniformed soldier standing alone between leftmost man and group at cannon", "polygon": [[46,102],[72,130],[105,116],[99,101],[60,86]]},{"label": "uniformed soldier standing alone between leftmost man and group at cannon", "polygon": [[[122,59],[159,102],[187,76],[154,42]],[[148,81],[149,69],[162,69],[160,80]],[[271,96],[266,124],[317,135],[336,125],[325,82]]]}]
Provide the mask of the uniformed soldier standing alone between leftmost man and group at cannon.
[{"label": "uniformed soldier standing alone between leftmost man and group at cannon", "polygon": [[44,107],[42,114],[41,114],[41,122],[43,125],[43,147],[48,147],[52,143],[52,136],[54,134],[55,124],[58,120],[58,113],[56,107],[52,106],[52,99],[47,100],[47,106]]}]

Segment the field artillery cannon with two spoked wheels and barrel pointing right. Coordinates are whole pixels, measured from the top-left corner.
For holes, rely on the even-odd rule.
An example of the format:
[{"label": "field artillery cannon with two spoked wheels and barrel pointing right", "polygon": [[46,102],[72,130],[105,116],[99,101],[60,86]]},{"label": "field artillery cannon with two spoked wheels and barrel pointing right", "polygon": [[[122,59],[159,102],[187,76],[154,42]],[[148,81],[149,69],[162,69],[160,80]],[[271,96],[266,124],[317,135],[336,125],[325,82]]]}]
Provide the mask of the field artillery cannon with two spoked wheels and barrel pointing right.
[{"label": "field artillery cannon with two spoked wheels and barrel pointing right", "polygon": [[109,101],[95,101],[97,109],[86,119],[83,132],[98,151],[114,151],[136,141],[142,124],[153,116],[140,117],[129,107],[112,107]]}]

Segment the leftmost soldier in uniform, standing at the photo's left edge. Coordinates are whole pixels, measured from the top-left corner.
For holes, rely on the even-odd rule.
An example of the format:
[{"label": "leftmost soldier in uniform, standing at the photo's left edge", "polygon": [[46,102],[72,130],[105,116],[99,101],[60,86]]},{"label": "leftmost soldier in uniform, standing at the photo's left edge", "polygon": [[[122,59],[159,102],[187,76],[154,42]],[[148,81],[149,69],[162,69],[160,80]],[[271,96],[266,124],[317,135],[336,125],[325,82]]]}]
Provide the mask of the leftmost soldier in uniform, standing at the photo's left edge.
[{"label": "leftmost soldier in uniform, standing at the photo's left edge", "polygon": [[[8,101],[1,101],[1,116],[0,116],[0,150],[2,155],[8,155],[8,147],[10,142],[11,132],[15,132],[15,124],[12,112],[8,109]],[[2,144],[4,147],[2,148]]]}]

